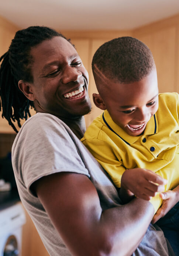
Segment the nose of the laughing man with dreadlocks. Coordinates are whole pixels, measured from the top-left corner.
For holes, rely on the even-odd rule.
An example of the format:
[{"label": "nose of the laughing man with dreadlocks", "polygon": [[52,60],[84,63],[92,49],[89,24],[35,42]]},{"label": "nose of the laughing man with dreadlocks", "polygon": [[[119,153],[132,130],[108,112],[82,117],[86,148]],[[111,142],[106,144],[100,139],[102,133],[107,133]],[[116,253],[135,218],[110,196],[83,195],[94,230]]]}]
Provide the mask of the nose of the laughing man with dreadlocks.
[{"label": "nose of the laughing man with dreadlocks", "polygon": [[62,83],[66,84],[69,82],[78,81],[82,76],[82,72],[75,67],[68,67],[64,70],[62,75]]}]

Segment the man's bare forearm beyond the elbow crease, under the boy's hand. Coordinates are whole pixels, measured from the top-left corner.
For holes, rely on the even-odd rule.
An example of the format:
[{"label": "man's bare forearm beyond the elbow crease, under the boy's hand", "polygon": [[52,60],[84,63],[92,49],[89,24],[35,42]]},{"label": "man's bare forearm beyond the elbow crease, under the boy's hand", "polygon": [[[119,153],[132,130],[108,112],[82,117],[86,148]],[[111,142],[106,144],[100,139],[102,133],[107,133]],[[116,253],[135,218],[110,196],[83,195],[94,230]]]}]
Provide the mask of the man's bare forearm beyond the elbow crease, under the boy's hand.
[{"label": "man's bare forearm beyond the elbow crease, under the boy's hand", "polygon": [[101,227],[105,230],[106,239],[113,244],[109,255],[131,255],[140,244],[153,214],[152,204],[139,198],[104,211]]}]

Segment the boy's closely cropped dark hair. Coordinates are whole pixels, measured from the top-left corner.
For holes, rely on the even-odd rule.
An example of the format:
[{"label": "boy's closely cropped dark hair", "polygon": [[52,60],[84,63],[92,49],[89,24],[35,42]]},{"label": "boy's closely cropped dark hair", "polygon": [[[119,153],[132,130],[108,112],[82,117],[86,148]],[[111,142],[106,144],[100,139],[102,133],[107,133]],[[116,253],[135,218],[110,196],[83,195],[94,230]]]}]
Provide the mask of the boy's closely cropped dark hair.
[{"label": "boy's closely cropped dark hair", "polygon": [[151,50],[130,36],[104,43],[97,49],[92,60],[93,74],[94,70],[95,73],[100,70],[107,78],[120,83],[140,81],[154,66]]}]

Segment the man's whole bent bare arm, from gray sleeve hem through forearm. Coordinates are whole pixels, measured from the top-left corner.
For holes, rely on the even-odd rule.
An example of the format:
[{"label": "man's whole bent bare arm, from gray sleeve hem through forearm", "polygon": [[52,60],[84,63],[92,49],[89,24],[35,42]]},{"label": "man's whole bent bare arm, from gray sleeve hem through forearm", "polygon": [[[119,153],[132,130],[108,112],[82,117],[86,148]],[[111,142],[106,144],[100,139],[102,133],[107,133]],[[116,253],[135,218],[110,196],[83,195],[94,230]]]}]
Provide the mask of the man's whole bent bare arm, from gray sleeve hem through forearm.
[{"label": "man's whole bent bare arm, from gray sleeve hem through forearm", "polygon": [[35,188],[73,256],[131,255],[154,214],[152,204],[139,198],[102,211],[96,188],[82,174],[51,174]]}]

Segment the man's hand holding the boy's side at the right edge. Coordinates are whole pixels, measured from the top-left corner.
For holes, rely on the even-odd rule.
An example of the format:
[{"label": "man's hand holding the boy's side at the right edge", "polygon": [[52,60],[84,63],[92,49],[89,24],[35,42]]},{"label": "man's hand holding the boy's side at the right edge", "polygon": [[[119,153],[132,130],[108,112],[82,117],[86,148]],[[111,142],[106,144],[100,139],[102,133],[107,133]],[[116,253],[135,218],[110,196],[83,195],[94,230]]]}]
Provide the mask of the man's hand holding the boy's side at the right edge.
[{"label": "man's hand holding the boy's side at the right edge", "polygon": [[179,201],[179,186],[173,190],[160,193],[159,196],[163,199],[161,207],[155,213],[152,223],[154,224],[160,218],[165,216],[172,207]]}]

